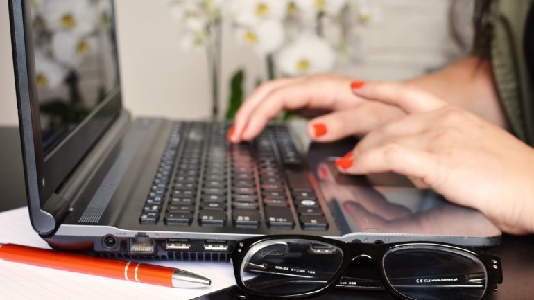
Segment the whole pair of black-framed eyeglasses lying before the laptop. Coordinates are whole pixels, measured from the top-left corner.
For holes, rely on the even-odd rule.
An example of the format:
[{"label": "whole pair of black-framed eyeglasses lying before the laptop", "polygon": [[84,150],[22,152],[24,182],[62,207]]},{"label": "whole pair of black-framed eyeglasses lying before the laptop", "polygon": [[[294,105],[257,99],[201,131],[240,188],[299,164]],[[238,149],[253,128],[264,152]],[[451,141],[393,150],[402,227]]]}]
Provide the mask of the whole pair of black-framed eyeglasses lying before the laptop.
[{"label": "whole pair of black-framed eyeglasses lying before the laptop", "polygon": [[[379,279],[345,274],[370,258]],[[263,236],[232,253],[239,288],[256,297],[311,297],[328,288],[386,290],[398,299],[489,299],[502,282],[497,256],[438,242],[356,244],[312,236]]]}]

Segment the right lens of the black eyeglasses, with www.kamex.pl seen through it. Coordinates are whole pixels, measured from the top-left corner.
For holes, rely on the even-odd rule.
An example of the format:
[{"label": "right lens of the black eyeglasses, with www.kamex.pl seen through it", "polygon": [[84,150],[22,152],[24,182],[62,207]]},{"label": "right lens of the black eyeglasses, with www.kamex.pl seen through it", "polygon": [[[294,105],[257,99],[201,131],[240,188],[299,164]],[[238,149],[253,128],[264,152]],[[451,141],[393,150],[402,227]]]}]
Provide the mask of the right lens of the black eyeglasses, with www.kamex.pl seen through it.
[{"label": "right lens of the black eyeglasses, with www.kamex.pl seen through it", "polygon": [[487,273],[481,261],[456,249],[405,246],[384,256],[384,271],[393,288],[412,299],[479,300]]}]

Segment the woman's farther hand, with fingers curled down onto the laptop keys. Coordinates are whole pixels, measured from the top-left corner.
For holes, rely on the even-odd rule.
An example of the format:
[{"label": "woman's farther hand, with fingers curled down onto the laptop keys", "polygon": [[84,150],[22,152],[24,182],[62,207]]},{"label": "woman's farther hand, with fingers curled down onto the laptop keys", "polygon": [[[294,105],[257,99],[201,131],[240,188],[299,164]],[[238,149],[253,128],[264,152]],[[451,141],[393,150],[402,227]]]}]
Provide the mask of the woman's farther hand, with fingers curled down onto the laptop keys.
[{"label": "woman's farther hand, with fingers curled down onto the laptop keys", "polygon": [[[334,74],[281,78],[264,83],[243,103],[234,119],[229,139],[233,143],[254,139],[270,118],[284,109],[298,110],[313,118],[308,134],[314,141],[335,141],[369,132],[404,113],[397,107],[365,101],[347,89],[352,78]],[[352,82],[357,86],[359,82]]]}]

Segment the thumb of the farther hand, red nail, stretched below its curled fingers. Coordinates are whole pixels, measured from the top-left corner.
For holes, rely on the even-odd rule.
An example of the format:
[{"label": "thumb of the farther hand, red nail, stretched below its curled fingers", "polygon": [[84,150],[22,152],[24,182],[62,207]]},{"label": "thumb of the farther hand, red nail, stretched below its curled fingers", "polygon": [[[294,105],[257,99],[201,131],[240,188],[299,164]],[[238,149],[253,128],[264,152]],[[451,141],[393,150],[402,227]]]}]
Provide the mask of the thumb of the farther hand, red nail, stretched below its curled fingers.
[{"label": "thumb of the farther hand, red nail, stretched below its curled fingers", "polygon": [[347,136],[363,136],[390,118],[404,114],[396,107],[366,102],[354,109],[339,110],[311,120],[307,127],[313,141],[330,142]]}]

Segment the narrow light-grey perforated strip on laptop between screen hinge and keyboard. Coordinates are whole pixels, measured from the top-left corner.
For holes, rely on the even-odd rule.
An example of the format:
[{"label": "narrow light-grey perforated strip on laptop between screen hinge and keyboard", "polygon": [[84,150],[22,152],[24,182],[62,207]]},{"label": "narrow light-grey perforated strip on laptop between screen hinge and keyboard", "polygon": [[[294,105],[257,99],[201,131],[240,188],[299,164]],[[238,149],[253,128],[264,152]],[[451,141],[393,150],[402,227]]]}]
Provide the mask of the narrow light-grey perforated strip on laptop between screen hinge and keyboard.
[{"label": "narrow light-grey perforated strip on laptop between screen hinge and keyboard", "polygon": [[[146,127],[145,127],[146,128]],[[135,130],[132,136],[127,140],[127,143],[121,145],[121,153],[117,160],[113,163],[110,170],[107,171],[101,186],[98,187],[91,202],[83,212],[80,223],[98,223],[100,218],[110,203],[113,194],[117,190],[122,177],[128,170],[130,162],[135,157],[135,153],[139,149],[139,144],[143,141],[146,129],[144,127]]]}]

